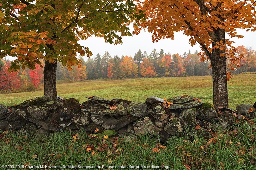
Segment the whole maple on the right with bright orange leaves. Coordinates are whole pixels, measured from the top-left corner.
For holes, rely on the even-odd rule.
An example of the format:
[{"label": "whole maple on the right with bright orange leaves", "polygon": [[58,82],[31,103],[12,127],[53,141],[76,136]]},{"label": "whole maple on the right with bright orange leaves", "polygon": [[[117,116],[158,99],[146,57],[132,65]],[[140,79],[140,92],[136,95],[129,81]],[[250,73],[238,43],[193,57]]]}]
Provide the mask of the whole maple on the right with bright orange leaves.
[{"label": "whole maple on the right with bright orange leaves", "polygon": [[147,28],[153,41],[158,41],[174,39],[174,32],[183,31],[191,45],[199,43],[201,61],[211,62],[213,102],[217,107],[228,107],[226,58],[231,61],[229,68],[240,59],[225,34],[241,38],[238,28],[255,31],[255,5],[254,0],[137,0],[137,10],[146,17],[134,23],[134,33]]}]

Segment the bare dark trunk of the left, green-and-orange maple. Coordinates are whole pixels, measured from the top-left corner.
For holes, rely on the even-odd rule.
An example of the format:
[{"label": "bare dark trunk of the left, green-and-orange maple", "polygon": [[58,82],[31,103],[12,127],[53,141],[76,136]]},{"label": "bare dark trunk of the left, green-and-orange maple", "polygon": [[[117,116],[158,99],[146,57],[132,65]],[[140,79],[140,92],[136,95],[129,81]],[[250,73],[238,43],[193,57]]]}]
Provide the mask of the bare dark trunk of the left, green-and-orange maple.
[{"label": "bare dark trunk of the left, green-and-orange maple", "polygon": [[57,72],[57,60],[55,60],[54,63],[45,61],[45,67],[44,67],[45,96],[50,96],[52,100],[57,100],[56,72]]}]

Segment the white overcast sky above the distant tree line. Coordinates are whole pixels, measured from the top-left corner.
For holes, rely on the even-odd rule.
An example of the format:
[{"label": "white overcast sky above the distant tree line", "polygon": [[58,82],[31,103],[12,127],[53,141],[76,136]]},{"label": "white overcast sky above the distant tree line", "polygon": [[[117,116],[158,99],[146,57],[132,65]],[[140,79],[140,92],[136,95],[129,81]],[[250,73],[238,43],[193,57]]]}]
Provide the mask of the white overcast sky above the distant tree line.
[{"label": "white overcast sky above the distant tree line", "polygon": [[[256,49],[256,32],[246,32],[245,30],[239,29],[238,34],[244,35],[244,38],[237,39],[233,38],[232,40],[236,42],[235,47],[239,45],[252,46],[253,49]],[[153,43],[151,39],[151,33],[141,31],[139,35],[133,35],[132,37],[123,37],[123,44],[112,45],[110,43],[105,43],[104,38],[100,37],[89,37],[85,41],[79,41],[79,43],[85,47],[88,47],[92,53],[93,58],[96,54],[101,54],[101,56],[108,50],[109,54],[113,58],[114,55],[121,57],[122,55],[134,56],[135,53],[141,49],[142,52],[146,51],[148,54],[156,48],[157,52],[163,48],[165,53],[170,52],[170,54],[179,53],[182,55],[184,52],[188,53],[190,50],[191,53],[194,53],[195,50],[200,51],[199,44],[194,45],[193,47],[189,44],[189,37],[183,35],[182,32],[174,33],[174,40],[163,39],[157,43]],[[10,60],[15,59],[14,57],[7,57]],[[84,56],[84,59],[87,60],[87,57]]]}]

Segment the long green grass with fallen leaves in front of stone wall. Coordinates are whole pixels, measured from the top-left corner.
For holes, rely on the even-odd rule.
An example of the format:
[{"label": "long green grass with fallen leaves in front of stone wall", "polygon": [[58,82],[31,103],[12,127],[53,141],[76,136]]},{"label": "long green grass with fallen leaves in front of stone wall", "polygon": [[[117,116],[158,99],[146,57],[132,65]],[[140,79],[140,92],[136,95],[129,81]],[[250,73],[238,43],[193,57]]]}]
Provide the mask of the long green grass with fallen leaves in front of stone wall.
[{"label": "long green grass with fallen leaves in front of stone wall", "polygon": [[[77,139],[74,139],[77,133]],[[82,131],[64,131],[39,138],[35,138],[33,133],[26,136],[7,133],[1,138],[1,165],[123,165],[135,168],[164,165],[172,170],[186,169],[185,166],[195,170],[256,169],[253,164],[256,158],[256,123],[241,123],[238,130],[233,131],[219,129],[209,144],[209,140],[200,135],[176,136],[161,144],[157,136],[144,135],[128,142],[122,138],[98,138]]]}]

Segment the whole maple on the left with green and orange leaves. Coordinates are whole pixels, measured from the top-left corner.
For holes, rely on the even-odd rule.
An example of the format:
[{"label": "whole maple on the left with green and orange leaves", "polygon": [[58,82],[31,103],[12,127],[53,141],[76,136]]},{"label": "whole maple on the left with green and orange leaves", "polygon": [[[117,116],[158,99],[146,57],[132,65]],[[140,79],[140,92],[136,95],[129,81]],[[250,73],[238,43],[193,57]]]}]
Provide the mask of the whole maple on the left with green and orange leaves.
[{"label": "whole maple on the left with green and orange leaves", "polygon": [[19,71],[20,65],[35,69],[45,60],[45,96],[57,99],[57,61],[69,70],[79,65],[77,53],[92,53],[78,41],[92,35],[122,43],[123,36],[131,36],[128,18],[139,17],[133,9],[130,0],[1,0],[0,58],[17,57],[9,71]]}]

